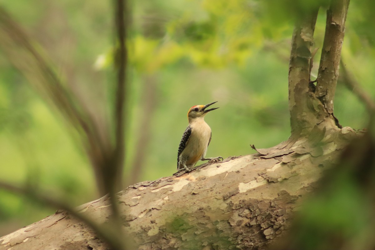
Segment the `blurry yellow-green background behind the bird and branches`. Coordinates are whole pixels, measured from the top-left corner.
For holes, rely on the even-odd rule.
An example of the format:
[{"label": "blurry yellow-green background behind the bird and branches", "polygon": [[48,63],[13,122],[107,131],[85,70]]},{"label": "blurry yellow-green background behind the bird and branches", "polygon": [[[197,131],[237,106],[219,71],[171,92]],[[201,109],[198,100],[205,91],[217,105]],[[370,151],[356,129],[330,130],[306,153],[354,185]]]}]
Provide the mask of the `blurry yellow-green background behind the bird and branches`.
[{"label": "blurry yellow-green background behind the bird and branches", "polygon": [[[267,1],[266,1],[267,2]],[[177,147],[193,105],[218,101],[206,121],[208,157],[255,153],[290,135],[288,57],[293,11],[277,1],[137,0],[129,31],[129,124],[124,179],[141,160],[141,177],[176,171]],[[111,1],[0,0],[46,51],[55,70],[99,117],[110,112],[113,76]],[[362,5],[361,5],[362,4]],[[371,9],[350,3],[342,49],[347,69],[375,97]],[[315,48],[321,48],[320,10]],[[1,39],[1,37],[0,37]],[[313,73],[321,50],[314,58]],[[363,104],[338,83],[335,115],[342,126],[366,127]],[[144,117],[146,116],[146,117]],[[143,124],[143,125],[142,125]],[[149,126],[144,126],[148,124]],[[138,144],[144,128],[146,140]],[[72,128],[31,88],[0,50],[0,178],[69,195],[72,205],[99,198],[90,162]],[[134,159],[138,146],[145,150]],[[200,162],[198,162],[200,164]],[[54,213],[0,190],[0,236]]]}]

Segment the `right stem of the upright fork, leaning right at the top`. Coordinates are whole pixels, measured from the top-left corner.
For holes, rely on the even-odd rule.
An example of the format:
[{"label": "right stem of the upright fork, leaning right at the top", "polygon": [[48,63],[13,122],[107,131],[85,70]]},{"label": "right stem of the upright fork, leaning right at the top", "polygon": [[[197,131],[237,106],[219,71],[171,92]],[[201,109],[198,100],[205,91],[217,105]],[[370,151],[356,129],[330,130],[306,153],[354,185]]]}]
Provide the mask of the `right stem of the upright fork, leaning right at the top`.
[{"label": "right stem of the upright fork, leaning right at the top", "polygon": [[329,114],[333,114],[333,100],[339,76],[341,47],[344,41],[345,20],[350,0],[332,0],[327,10],[326,33],[318,70],[316,96]]}]

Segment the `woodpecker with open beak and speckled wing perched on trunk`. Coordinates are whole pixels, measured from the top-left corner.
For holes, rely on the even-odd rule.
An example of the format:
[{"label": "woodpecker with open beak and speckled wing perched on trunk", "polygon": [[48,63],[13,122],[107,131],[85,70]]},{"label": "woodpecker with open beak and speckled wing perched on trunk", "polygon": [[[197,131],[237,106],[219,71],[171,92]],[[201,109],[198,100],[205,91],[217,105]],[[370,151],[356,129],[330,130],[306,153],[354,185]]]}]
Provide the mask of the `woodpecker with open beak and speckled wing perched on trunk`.
[{"label": "woodpecker with open beak and speckled wing perched on trunk", "polygon": [[207,152],[207,147],[211,141],[211,128],[204,121],[204,116],[218,108],[206,109],[213,103],[207,105],[196,105],[192,106],[187,112],[187,120],[189,120],[189,126],[187,126],[184,134],[182,135],[180,145],[178,147],[177,154],[177,170],[191,171],[191,168],[199,160],[210,160],[210,162],[218,162],[220,158],[204,158]]}]

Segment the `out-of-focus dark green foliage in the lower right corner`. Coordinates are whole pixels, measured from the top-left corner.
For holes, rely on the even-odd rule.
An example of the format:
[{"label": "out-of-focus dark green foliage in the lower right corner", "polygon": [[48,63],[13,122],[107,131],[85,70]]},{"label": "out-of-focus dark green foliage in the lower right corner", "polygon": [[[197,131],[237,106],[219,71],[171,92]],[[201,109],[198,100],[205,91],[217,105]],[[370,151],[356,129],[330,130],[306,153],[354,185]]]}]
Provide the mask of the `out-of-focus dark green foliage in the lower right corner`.
[{"label": "out-of-focus dark green foliage in the lower right corner", "polygon": [[324,192],[311,197],[298,212],[295,246],[328,250],[345,242],[350,249],[366,249],[366,242],[372,239],[371,202],[352,175],[336,175]]}]

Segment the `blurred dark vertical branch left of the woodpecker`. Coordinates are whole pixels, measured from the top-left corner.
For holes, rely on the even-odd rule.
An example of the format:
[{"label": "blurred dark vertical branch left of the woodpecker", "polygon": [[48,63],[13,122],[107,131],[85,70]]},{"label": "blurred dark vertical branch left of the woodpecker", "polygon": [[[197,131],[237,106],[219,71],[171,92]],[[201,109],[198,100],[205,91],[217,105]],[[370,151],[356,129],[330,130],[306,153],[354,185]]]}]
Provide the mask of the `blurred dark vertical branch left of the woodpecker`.
[{"label": "blurred dark vertical branch left of the woodpecker", "polygon": [[125,45],[127,25],[125,16],[127,13],[127,2],[125,0],[114,1],[114,24],[115,24],[115,42],[118,42],[115,51],[117,71],[117,84],[115,87],[114,98],[114,146],[111,153],[111,159],[106,165],[102,166],[102,176],[104,181],[105,193],[109,195],[111,202],[111,220],[114,229],[118,234],[118,239],[124,234],[122,225],[121,212],[118,207],[118,198],[116,193],[122,188],[122,173],[124,165],[124,151],[125,151],[125,111],[127,111],[127,49]]}]

